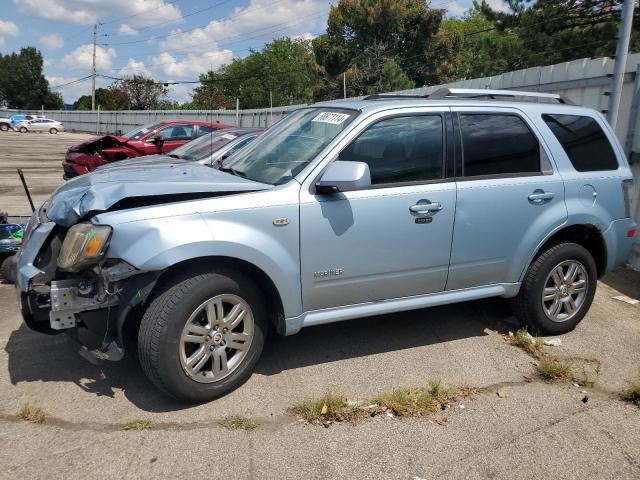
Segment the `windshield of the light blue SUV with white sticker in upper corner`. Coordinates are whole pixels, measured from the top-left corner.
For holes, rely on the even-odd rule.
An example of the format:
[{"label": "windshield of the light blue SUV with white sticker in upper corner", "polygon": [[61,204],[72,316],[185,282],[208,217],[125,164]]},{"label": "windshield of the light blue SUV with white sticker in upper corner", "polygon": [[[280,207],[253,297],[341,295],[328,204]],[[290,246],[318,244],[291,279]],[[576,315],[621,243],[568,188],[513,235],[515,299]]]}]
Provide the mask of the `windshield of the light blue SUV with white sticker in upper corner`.
[{"label": "windshield of the light blue SUV with white sticker in upper corner", "polygon": [[330,107],[296,110],[225,161],[222,170],[256,182],[271,185],[286,183],[302,171],[359,113]]}]

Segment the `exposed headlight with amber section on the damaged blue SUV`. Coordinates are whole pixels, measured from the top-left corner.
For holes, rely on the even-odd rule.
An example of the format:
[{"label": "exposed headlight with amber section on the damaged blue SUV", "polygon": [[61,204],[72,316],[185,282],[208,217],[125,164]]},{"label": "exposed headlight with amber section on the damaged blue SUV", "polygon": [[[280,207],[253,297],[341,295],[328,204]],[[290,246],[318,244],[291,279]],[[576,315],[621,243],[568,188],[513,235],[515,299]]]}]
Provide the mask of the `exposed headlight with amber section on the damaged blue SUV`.
[{"label": "exposed headlight with amber section on the damaged blue SUV", "polygon": [[77,272],[87,265],[98,263],[104,256],[111,236],[111,227],[79,223],[67,232],[64,238],[58,268]]}]

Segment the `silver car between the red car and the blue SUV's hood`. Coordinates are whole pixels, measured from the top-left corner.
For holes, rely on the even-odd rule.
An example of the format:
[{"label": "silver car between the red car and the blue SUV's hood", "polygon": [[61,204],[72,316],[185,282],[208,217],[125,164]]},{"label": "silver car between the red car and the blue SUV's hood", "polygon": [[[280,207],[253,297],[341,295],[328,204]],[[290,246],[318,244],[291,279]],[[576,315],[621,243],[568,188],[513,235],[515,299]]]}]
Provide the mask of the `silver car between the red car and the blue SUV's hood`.
[{"label": "silver car between the red car and the blue SUV's hood", "polygon": [[164,155],[147,155],[138,158],[129,158],[116,163],[107,163],[98,169],[114,166],[156,165],[159,163],[198,162],[201,165],[218,168],[222,160],[233,153],[249,145],[263,132],[260,128],[228,128],[217,132],[208,133],[195,140],[185,143],[171,153]]}]

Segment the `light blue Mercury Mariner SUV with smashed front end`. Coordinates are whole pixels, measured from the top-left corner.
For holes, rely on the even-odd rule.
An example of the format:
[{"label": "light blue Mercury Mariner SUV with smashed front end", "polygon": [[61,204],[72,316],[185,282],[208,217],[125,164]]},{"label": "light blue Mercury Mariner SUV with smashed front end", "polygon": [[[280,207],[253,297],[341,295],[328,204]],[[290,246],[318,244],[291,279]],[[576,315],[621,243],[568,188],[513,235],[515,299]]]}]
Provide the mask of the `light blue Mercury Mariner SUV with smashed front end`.
[{"label": "light blue Mercury Mariner SUV with smashed front end", "polygon": [[22,313],[94,360],[136,339],[151,381],[188,402],[242,384],[269,324],[505,297],[562,334],[629,255],[631,180],[604,117],[558,95],[320,103],[219,170],[113,166],[61,186],[25,232]]}]

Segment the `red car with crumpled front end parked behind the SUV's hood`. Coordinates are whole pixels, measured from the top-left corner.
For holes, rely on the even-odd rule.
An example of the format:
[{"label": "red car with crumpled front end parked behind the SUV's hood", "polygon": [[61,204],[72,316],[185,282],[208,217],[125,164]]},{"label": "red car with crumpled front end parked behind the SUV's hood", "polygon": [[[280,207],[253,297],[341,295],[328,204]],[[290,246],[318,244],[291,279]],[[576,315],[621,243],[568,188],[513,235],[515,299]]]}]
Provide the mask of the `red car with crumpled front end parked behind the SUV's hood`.
[{"label": "red car with crumpled front end parked behind the SUV's hood", "polygon": [[100,165],[125,158],[168,153],[200,135],[231,126],[188,120],[167,121],[143,125],[122,137],[94,137],[67,150],[62,162],[63,178],[69,180],[92,172]]}]

